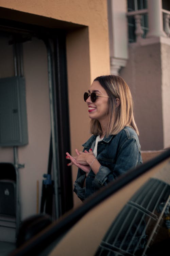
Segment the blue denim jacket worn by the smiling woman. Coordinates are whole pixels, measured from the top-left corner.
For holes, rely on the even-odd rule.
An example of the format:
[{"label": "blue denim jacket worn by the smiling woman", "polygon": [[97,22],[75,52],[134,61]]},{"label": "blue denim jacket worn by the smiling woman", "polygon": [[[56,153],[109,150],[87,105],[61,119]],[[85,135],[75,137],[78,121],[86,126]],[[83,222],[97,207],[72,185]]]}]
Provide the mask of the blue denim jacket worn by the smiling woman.
[{"label": "blue denim jacket worn by the smiling woman", "polygon": [[[83,152],[94,148],[96,137],[92,135],[82,145],[84,146]],[[142,163],[140,144],[134,129],[124,127],[118,134],[104,137],[102,141],[98,142],[96,158],[101,164],[96,175],[90,169],[86,177],[85,172],[78,169],[73,191],[82,201],[102,186],[115,180],[119,175]],[[85,187],[83,187],[85,178]]]}]

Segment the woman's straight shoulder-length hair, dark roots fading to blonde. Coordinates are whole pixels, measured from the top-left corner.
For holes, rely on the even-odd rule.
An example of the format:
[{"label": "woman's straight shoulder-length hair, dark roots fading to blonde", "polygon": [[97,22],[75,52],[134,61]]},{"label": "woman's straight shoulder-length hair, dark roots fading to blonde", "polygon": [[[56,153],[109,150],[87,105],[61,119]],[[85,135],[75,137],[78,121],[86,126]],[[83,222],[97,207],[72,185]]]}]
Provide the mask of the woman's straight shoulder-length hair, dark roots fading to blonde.
[{"label": "woman's straight shoulder-length hair, dark roots fading to blonde", "polygon": [[[133,114],[132,95],[126,82],[117,75],[98,76],[94,81],[99,81],[109,96],[109,123],[107,126],[106,137],[111,134],[116,135],[125,126],[132,127],[139,135]],[[117,107],[116,99],[120,100],[120,104]],[[102,134],[102,129],[98,120],[91,119],[90,131],[94,135]]]}]

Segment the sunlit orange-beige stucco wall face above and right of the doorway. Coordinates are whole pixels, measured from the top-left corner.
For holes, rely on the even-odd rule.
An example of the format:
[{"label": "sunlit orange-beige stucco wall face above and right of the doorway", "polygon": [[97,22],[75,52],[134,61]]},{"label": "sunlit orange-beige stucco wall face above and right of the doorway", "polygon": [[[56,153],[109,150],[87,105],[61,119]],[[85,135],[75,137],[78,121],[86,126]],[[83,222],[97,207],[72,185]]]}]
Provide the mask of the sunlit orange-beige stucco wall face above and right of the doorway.
[{"label": "sunlit orange-beige stucco wall face above and right of the doorway", "polygon": [[0,6],[88,26],[91,79],[98,74],[109,72],[106,1],[1,0]]}]

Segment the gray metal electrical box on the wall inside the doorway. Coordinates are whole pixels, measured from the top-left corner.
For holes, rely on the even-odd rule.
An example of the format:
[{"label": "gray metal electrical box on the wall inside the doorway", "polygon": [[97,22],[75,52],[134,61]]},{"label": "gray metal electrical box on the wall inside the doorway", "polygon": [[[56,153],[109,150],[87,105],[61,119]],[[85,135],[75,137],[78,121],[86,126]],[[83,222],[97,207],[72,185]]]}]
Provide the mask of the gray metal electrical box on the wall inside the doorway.
[{"label": "gray metal electrical box on the wall inside the doorway", "polygon": [[0,79],[0,146],[28,144],[24,77]]}]

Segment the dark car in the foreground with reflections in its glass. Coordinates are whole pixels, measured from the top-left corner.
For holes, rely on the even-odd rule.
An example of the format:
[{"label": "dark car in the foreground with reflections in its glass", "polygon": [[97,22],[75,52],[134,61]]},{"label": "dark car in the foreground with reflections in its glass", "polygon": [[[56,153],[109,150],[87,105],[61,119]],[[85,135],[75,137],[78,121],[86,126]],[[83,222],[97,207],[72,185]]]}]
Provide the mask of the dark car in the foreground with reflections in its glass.
[{"label": "dark car in the foreground with reflections in its glass", "polygon": [[170,150],[129,170],[10,256],[169,255]]}]

